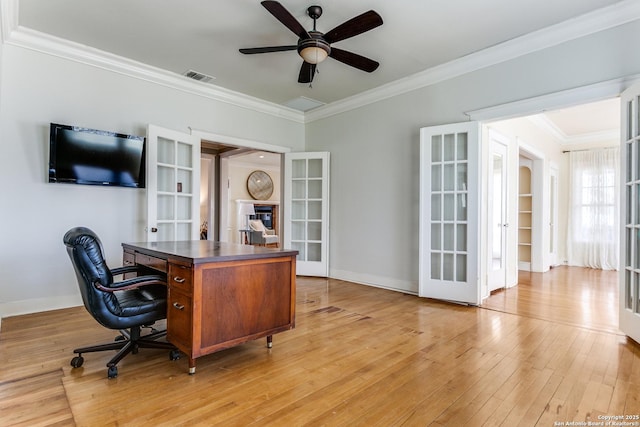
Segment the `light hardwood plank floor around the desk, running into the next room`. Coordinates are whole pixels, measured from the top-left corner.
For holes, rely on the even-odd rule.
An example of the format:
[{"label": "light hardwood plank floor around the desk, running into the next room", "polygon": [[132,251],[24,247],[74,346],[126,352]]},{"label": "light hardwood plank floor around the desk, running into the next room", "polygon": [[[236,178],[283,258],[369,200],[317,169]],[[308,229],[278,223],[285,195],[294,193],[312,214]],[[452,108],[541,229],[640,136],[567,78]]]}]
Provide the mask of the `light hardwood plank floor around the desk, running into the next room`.
[{"label": "light hardwood plank floor around the desk, running into the next room", "polygon": [[[296,328],[198,359],[112,339],[83,308],[2,321],[0,425],[555,426],[640,414],[640,346],[617,331],[615,272],[520,275],[482,307],[298,279]],[[640,420],[636,420],[640,421]]]}]

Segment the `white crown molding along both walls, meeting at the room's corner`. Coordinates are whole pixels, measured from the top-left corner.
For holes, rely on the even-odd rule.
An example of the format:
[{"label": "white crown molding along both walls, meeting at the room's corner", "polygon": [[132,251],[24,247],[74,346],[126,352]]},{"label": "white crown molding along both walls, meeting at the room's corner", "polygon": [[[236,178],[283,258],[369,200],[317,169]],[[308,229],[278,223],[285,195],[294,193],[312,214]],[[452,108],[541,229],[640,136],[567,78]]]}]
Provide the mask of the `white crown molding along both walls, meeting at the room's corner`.
[{"label": "white crown molding along both walls, meeting at the room's corner", "polygon": [[306,113],[219,86],[192,81],[175,73],[21,27],[18,23],[18,0],[0,0],[0,13],[2,15],[0,34],[4,43],[92,65],[293,122],[310,123],[638,20],[640,19],[640,1],[623,0]]}]

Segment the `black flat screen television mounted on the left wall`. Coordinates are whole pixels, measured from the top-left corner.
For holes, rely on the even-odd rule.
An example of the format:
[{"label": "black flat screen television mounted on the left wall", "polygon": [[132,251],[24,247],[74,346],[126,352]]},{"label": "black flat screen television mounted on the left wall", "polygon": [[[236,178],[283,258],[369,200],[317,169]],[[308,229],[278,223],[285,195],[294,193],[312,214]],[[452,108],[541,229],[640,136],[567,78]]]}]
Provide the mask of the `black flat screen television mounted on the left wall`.
[{"label": "black flat screen television mounted on the left wall", "polygon": [[144,188],[145,138],[51,123],[49,182]]}]

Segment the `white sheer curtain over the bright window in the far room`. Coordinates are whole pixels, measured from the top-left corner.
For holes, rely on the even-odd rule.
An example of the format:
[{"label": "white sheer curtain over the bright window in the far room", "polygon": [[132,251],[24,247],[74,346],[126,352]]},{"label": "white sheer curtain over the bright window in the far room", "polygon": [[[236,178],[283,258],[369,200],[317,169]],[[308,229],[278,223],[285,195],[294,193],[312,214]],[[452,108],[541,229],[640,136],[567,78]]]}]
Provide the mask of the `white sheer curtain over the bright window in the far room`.
[{"label": "white sheer curtain over the bright window in the far room", "polygon": [[617,270],[620,150],[569,154],[569,265]]}]

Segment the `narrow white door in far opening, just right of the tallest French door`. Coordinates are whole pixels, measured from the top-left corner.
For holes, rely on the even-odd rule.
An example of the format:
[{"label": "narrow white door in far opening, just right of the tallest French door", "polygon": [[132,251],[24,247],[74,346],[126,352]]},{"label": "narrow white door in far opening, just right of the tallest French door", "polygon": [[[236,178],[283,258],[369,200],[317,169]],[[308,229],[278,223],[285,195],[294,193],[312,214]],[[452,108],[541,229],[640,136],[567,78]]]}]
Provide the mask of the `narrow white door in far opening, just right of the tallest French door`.
[{"label": "narrow white door in far opening, just right of the tallest French door", "polygon": [[489,131],[487,191],[487,283],[489,292],[507,286],[507,144],[495,131]]}]

